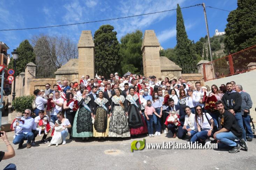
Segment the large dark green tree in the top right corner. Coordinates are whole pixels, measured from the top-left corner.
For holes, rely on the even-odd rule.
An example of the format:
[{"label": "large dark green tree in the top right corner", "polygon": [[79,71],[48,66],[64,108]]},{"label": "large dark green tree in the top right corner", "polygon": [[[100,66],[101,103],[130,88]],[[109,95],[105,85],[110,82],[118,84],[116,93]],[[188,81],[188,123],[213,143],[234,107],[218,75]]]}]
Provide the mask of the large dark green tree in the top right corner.
[{"label": "large dark green tree in the top right corner", "polygon": [[237,8],[227,18],[225,52],[234,53],[256,44],[256,2],[237,0]]}]

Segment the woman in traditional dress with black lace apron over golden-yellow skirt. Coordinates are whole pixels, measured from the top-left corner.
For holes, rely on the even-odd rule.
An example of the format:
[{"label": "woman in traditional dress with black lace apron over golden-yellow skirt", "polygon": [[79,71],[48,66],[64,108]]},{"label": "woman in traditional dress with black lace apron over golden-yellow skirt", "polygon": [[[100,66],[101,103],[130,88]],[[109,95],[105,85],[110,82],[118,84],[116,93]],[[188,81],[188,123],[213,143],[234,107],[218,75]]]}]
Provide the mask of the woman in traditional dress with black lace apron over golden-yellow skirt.
[{"label": "woman in traditional dress with black lace apron over golden-yellow skirt", "polygon": [[93,136],[101,139],[108,136],[109,132],[109,104],[108,99],[103,97],[103,91],[98,92],[99,97],[94,100],[96,103],[96,109],[94,109],[94,126],[93,126]]}]

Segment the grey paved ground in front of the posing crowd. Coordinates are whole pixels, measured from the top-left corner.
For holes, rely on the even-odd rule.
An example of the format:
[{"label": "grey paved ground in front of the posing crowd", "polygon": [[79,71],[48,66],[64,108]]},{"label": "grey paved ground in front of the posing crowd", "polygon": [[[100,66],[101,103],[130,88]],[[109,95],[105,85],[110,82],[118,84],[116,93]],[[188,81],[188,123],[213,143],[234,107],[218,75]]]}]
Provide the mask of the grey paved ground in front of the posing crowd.
[{"label": "grey paved ground in front of the posing crowd", "polygon": [[[13,132],[8,132],[12,140]],[[184,143],[185,140],[173,139],[161,135],[149,138],[139,136],[136,140],[146,139],[146,143],[162,143],[163,141],[176,141]],[[37,140],[41,137],[37,137]],[[236,154],[227,151],[215,151],[213,149],[159,149],[131,152],[131,142],[134,138],[97,141],[91,138],[89,141],[77,139],[68,141],[66,145],[47,147],[37,141],[37,145],[27,149],[17,149],[13,145],[16,156],[9,160],[2,160],[0,169],[8,163],[15,163],[18,170],[50,170],[50,169],[188,169],[188,170],[252,170],[256,165],[256,138],[248,142],[249,151],[240,150]],[[25,145],[23,145],[25,146]],[[0,142],[0,150],[6,151],[3,142]]]}]

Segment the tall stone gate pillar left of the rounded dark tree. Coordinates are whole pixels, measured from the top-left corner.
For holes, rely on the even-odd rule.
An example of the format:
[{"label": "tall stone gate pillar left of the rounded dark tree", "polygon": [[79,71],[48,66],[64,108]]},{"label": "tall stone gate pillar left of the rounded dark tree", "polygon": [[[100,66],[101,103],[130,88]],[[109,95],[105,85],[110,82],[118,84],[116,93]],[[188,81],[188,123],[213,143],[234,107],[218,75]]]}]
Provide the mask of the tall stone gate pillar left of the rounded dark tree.
[{"label": "tall stone gate pillar left of the rounded dark tree", "polygon": [[78,41],[78,78],[89,75],[90,79],[95,76],[94,42],[91,31],[82,31]]}]

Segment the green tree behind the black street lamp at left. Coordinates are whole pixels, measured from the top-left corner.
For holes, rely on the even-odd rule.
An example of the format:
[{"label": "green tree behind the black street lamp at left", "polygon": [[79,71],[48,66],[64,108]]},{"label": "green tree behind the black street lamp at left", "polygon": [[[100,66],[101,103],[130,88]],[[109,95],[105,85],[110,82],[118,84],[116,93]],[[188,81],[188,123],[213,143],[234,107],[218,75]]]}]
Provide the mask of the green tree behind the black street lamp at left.
[{"label": "green tree behind the black street lamp at left", "polygon": [[[25,71],[25,66],[29,62],[36,62],[36,55],[34,53],[33,47],[31,46],[28,40],[24,40],[20,43],[19,47],[17,48],[17,52],[19,58],[16,61],[16,75],[19,75],[21,72]],[[8,68],[14,69],[13,58],[10,59]]]}]

